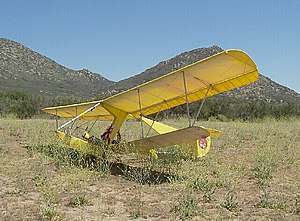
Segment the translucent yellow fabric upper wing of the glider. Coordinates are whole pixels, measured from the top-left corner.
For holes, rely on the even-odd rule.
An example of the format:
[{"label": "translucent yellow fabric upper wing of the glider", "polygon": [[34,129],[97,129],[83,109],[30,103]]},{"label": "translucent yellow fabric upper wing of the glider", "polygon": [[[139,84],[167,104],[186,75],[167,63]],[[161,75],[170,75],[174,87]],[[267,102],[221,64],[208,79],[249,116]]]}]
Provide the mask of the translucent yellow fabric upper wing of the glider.
[{"label": "translucent yellow fabric upper wing of the glider", "polygon": [[[191,103],[203,99],[208,89],[210,97],[257,79],[257,67],[245,52],[227,50],[101,101],[50,107],[43,111],[73,118],[100,102],[127,112],[128,118],[140,118],[141,114],[147,116],[186,103],[186,92]],[[112,118],[101,105],[80,117],[85,120]]]}]

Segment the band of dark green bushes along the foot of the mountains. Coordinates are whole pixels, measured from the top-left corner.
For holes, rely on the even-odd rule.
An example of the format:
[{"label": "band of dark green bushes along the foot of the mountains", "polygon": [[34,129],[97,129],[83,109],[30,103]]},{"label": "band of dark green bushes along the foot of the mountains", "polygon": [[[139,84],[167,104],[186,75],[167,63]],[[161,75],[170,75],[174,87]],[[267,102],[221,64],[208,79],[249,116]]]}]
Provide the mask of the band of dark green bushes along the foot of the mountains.
[{"label": "band of dark green bushes along the foot of the mountains", "polygon": [[[100,99],[100,98],[99,98]],[[41,116],[41,109],[49,106],[65,105],[82,102],[84,100],[72,97],[45,97],[34,96],[24,91],[0,91],[0,116],[15,115],[17,118],[26,119]],[[85,100],[86,101],[86,100]],[[200,106],[199,102],[190,105],[192,114],[196,114]],[[159,116],[183,116],[186,115],[186,106],[182,105],[171,110],[164,111]],[[216,118],[226,120],[254,120],[272,117],[280,119],[284,117],[300,116],[300,105],[294,103],[275,104],[263,101],[247,101],[234,98],[208,98],[205,102],[200,118],[208,120]]]}]

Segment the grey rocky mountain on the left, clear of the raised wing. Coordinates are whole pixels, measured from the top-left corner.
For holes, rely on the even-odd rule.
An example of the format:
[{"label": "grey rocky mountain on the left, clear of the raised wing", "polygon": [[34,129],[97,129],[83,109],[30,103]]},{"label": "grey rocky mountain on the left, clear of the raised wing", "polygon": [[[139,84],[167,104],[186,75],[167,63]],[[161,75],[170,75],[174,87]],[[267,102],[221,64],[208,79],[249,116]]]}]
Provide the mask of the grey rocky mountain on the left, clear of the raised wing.
[{"label": "grey rocky mountain on the left, clear of the raised wing", "polygon": [[66,68],[17,42],[0,39],[0,89],[48,96],[96,97],[111,85],[99,74]]}]

